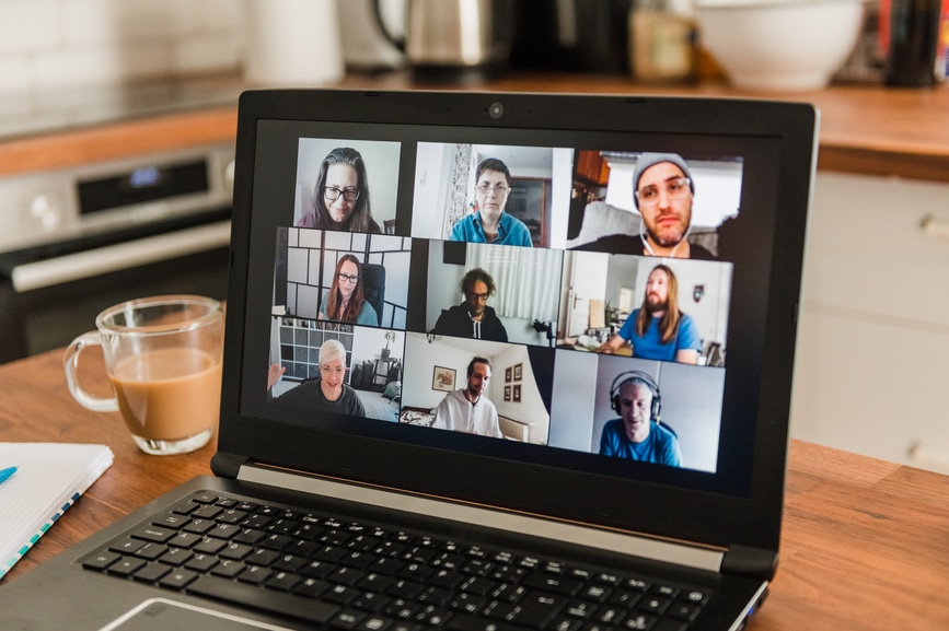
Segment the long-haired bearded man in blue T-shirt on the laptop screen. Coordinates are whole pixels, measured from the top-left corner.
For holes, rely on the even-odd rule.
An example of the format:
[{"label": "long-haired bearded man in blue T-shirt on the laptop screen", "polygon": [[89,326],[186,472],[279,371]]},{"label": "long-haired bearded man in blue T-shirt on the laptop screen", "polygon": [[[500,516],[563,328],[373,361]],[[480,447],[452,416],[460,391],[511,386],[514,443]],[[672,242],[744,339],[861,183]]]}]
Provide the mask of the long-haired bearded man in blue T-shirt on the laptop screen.
[{"label": "long-haired bearded man in blue T-shirt on the laptop screen", "polygon": [[597,352],[615,353],[627,343],[633,346],[634,358],[698,363],[698,328],[692,317],[679,311],[679,282],[669,266],[652,268],[643,306],[634,309],[620,332]]}]

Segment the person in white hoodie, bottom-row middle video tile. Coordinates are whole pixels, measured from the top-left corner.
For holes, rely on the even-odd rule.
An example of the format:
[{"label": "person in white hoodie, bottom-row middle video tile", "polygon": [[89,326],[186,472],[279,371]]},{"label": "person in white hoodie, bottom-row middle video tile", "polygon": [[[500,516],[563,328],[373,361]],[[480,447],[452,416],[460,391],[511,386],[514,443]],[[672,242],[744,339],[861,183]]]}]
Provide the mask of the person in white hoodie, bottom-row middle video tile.
[{"label": "person in white hoodie, bottom-row middle video tile", "polygon": [[472,359],[467,365],[467,385],[445,395],[436,409],[433,426],[502,439],[498,410],[484,395],[490,378],[490,362],[486,358]]}]

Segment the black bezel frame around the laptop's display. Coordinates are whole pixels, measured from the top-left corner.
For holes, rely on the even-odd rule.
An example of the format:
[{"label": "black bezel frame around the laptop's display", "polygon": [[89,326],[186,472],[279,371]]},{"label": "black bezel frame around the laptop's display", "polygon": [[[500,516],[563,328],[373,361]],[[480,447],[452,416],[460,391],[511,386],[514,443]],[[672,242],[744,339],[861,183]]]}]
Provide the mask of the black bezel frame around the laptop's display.
[{"label": "black bezel frame around the laptop's display", "polygon": [[[423,117],[432,124],[467,124],[478,114],[484,115],[484,125],[491,127],[530,128],[534,125],[535,109],[543,110],[552,103],[552,95],[506,95],[506,94],[426,94],[426,93],[359,93],[369,103],[361,107],[367,112],[378,112],[389,122],[418,124]],[[234,188],[234,217],[232,233],[231,265],[232,273],[228,302],[228,337],[225,349],[224,387],[222,390],[221,434],[219,456],[216,461],[229,458],[240,463],[244,458],[257,459],[267,454],[278,437],[287,434],[280,423],[240,414],[240,379],[243,374],[242,348],[251,335],[244,330],[247,288],[245,284],[250,242],[248,225],[244,218],[251,212],[253,196],[253,164],[256,153],[256,130],[259,119],[301,119],[306,120],[320,112],[324,119],[334,116],[334,103],[350,103],[352,93],[319,91],[263,91],[248,92],[241,96],[238,122],[238,153]],[[461,96],[464,96],[462,98]],[[532,490],[545,489],[541,495],[556,493],[565,498],[564,505],[570,509],[559,515],[566,519],[597,522],[604,527],[629,528],[635,531],[656,536],[696,540],[710,546],[739,546],[742,549],[761,549],[776,552],[779,538],[784,475],[787,459],[787,430],[790,407],[790,375],[794,366],[794,339],[796,328],[797,302],[800,291],[803,243],[807,210],[810,201],[810,187],[815,165],[817,122],[815,108],[806,104],[751,103],[740,101],[692,100],[662,97],[571,97],[571,106],[582,110],[587,103],[597,110],[615,109],[615,115],[629,115],[627,108],[636,108],[641,117],[636,130],[650,130],[648,122],[651,112],[681,108],[690,117],[702,110],[706,120],[714,126],[698,125],[694,120],[683,125],[680,132],[728,133],[740,128],[743,133],[783,137],[783,154],[779,160],[783,174],[782,188],[777,191],[775,232],[782,238],[774,239],[774,267],[768,279],[767,324],[762,357],[762,379],[757,400],[756,417],[759,431],[754,436],[754,461],[750,494],[736,498],[719,493],[695,490],[670,489],[652,483],[624,481],[614,487],[610,480],[595,475],[565,475],[551,467],[539,465],[518,465],[510,461],[483,456],[459,456],[440,449],[424,446],[414,447],[393,445],[383,440],[367,440],[351,436],[334,436],[332,448],[321,448],[325,456],[319,474],[345,476],[356,472],[357,477],[370,482],[383,478],[392,482],[391,472],[403,467],[404,463],[414,464],[413,469],[438,470],[444,467],[447,458],[455,463],[464,460],[474,470],[489,471],[496,481],[489,488],[478,488],[471,480],[453,479],[452,476],[425,477],[413,471],[405,472],[405,479],[397,484],[413,488],[435,495],[462,496],[470,501],[489,505],[508,506],[516,511],[532,512],[533,506],[524,505],[522,498]],[[583,98],[590,100],[585,102]],[[487,112],[491,103],[504,101],[506,107],[502,120],[490,120]],[[393,105],[394,104],[394,105]],[[432,105],[436,105],[435,108]],[[513,106],[511,106],[513,104]],[[345,112],[340,118],[349,118],[359,112]],[[741,116],[740,124],[731,125],[728,116]],[[546,113],[545,113],[546,115]],[[578,113],[574,108],[554,113],[554,125],[565,127],[578,125]],[[660,119],[662,119],[660,117]],[[607,129],[613,125],[609,117],[603,121],[587,120],[582,125],[590,128]],[[613,119],[615,120],[615,119]],[[694,129],[691,129],[694,127]],[[784,183],[808,182],[809,186],[791,186]],[[289,432],[296,434],[296,429]],[[329,436],[322,436],[327,440]],[[374,443],[378,448],[367,449],[366,444]],[[357,453],[354,459],[334,459],[334,454]],[[233,467],[229,467],[233,469]],[[383,476],[381,472],[385,471]],[[764,475],[767,472],[768,475]],[[441,482],[445,486],[441,487]],[[586,491],[578,489],[586,489]],[[601,489],[601,492],[588,492]],[[552,491],[556,490],[556,491]],[[649,507],[649,515],[629,519],[628,514],[616,515],[603,511],[603,501],[597,495],[628,498],[640,506]],[[618,495],[617,495],[618,493]],[[680,514],[678,506],[688,505],[688,514]]]}]

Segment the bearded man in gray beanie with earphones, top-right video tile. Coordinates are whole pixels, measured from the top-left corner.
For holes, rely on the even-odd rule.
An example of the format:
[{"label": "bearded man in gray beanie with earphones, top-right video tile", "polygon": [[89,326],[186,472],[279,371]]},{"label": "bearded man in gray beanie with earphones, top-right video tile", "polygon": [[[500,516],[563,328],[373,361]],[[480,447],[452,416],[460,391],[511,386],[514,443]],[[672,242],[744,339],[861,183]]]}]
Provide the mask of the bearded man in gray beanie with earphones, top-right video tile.
[{"label": "bearded man in gray beanie with earphones, top-right video tile", "polygon": [[577,249],[715,260],[701,245],[688,243],[695,182],[676,153],[641,153],[633,174],[633,201],[639,211],[639,234],[613,234]]}]

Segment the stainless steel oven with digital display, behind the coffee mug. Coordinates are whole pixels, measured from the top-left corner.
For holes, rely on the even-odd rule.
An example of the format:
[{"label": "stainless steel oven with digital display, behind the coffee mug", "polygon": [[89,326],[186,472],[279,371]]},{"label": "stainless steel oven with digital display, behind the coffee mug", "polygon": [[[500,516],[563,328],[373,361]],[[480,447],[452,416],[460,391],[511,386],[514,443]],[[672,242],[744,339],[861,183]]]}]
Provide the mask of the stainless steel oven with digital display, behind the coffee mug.
[{"label": "stainless steel oven with digital display, behind the coffee mug", "polygon": [[233,142],[0,178],[0,363],[115,303],[227,294]]}]

